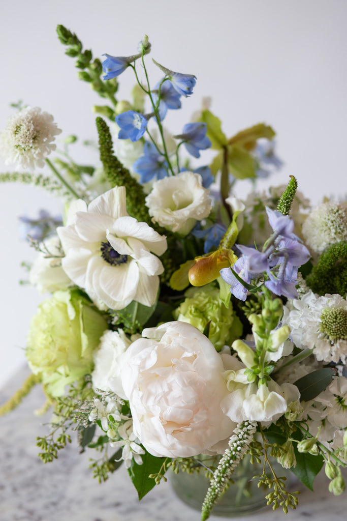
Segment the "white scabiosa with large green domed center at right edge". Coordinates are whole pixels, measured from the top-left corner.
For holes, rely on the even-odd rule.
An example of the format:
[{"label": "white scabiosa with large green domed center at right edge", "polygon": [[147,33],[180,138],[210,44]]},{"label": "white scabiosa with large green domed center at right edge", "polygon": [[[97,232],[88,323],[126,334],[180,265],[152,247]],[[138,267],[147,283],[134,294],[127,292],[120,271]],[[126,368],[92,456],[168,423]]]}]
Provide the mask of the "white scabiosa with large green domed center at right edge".
[{"label": "white scabiosa with large green domed center at right edge", "polygon": [[[288,306],[288,304],[287,304]],[[347,359],[347,301],[341,295],[317,297],[312,291],[284,307],[282,322],[298,348],[313,349],[318,361]]]}]

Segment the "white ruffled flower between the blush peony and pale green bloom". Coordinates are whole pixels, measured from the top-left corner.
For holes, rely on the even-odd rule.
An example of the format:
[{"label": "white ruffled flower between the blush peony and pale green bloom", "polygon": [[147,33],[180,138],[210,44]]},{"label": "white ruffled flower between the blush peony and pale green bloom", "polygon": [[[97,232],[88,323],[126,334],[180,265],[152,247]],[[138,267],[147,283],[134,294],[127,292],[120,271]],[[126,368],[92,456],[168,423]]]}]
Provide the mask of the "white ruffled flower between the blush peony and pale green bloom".
[{"label": "white ruffled flower between the blush peony and pale green bloom", "polygon": [[112,391],[126,399],[121,381],[120,356],[130,346],[131,340],[124,331],[107,330],[100,338],[99,349],[94,355],[92,382],[95,389]]}]

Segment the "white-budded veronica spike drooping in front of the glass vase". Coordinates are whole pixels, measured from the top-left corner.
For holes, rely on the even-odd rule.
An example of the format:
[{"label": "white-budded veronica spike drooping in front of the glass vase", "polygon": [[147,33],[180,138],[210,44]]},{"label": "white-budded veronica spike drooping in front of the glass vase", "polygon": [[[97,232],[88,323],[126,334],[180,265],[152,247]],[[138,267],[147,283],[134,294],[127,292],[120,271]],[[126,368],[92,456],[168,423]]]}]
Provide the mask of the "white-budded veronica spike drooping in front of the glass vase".
[{"label": "white-budded veronica spike drooping in front of the glass vase", "polygon": [[216,501],[223,494],[233,470],[245,456],[256,430],[255,421],[242,421],[229,439],[229,448],[216,468],[201,509],[201,521],[209,518]]}]

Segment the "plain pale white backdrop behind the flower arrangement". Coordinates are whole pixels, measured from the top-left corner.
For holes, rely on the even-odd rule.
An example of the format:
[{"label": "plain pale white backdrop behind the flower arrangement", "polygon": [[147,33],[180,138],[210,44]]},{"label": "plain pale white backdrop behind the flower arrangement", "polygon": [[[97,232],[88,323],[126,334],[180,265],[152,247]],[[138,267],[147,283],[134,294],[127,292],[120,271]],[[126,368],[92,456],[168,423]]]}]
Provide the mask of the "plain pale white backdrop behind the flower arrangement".
[{"label": "plain pale white backdrop behind the flower arrangement", "polygon": [[[1,128],[13,113],[9,103],[23,100],[52,113],[62,137],[95,139],[91,107],[99,98],[76,79],[55,27],[76,32],[94,56],[133,54],[146,33],[159,63],[198,78],[183,110],[165,120],[172,132],[211,95],[226,134],[261,121],[276,130],[285,167],[272,183],[293,174],[314,202],[347,191],[344,0],[12,0],[2,11]],[[159,71],[151,71],[159,79]],[[125,97],[131,71],[120,81]],[[75,151],[76,159],[88,160],[82,147]],[[0,169],[8,170],[3,163]],[[41,300],[18,284],[25,278],[20,263],[35,255],[21,240],[18,216],[34,217],[39,208],[60,205],[38,189],[1,185],[0,384],[24,363],[25,335]]]}]

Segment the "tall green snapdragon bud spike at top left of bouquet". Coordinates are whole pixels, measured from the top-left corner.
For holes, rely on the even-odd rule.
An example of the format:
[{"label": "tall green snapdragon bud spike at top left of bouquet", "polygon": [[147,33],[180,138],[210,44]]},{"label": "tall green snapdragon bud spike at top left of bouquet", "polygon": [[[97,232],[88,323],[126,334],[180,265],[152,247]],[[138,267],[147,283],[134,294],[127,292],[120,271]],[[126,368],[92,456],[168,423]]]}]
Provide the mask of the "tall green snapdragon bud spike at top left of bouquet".
[{"label": "tall green snapdragon bud spike at top left of bouquet", "polygon": [[80,80],[89,83],[92,89],[97,92],[100,97],[108,98],[111,102],[112,107],[95,106],[94,110],[109,117],[113,121],[115,117],[114,108],[117,105],[117,100],[114,96],[118,90],[117,78],[113,78],[107,82],[102,81],[101,61],[98,58],[94,58],[93,60],[92,51],[89,49],[83,51],[83,44],[75,33],[72,33],[62,25],[58,25],[57,34],[60,42],[68,47],[65,54],[72,58],[76,58],[75,66],[81,69],[78,75]]}]

